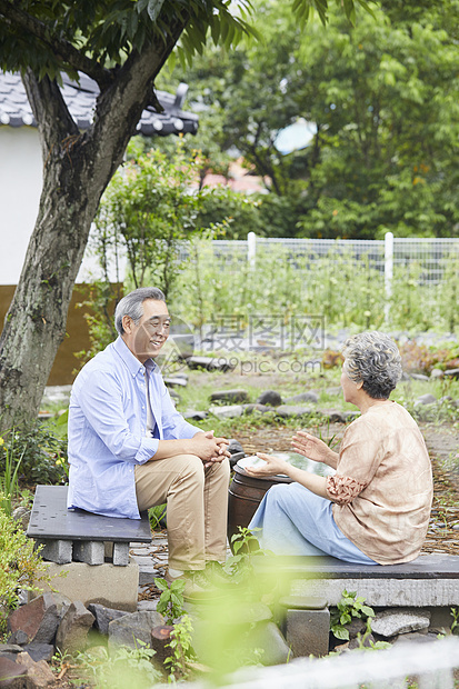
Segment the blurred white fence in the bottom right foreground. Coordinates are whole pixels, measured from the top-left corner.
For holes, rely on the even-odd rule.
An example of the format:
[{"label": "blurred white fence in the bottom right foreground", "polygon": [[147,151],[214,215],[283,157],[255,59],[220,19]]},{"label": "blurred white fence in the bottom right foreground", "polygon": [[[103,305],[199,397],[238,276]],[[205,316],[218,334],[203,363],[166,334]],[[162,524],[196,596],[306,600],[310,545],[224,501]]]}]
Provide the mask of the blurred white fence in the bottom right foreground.
[{"label": "blurred white fence in the bottom right foreground", "polygon": [[[271,668],[242,668],[224,686],[232,689],[455,689],[459,639],[405,642],[389,650],[299,659]],[[415,683],[416,682],[416,683]],[[187,685],[209,689],[207,682]]]}]

